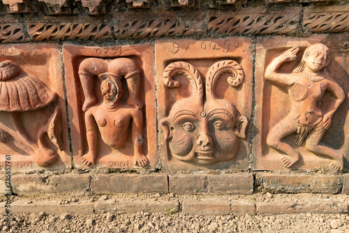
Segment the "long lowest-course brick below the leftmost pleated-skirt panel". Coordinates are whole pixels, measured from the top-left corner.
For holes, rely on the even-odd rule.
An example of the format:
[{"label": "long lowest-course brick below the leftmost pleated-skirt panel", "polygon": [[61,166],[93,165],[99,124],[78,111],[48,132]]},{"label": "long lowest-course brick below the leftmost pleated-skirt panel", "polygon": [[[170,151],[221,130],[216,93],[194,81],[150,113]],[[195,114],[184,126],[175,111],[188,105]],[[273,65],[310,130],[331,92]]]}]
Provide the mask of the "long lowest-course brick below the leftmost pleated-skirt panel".
[{"label": "long lowest-course brick below the leftmost pleated-skirt panel", "polygon": [[94,212],[92,202],[76,202],[71,204],[59,204],[59,201],[42,201],[28,203],[28,200],[18,200],[11,204],[11,213],[41,213],[59,215],[61,213],[91,214]]}]

